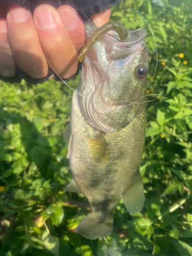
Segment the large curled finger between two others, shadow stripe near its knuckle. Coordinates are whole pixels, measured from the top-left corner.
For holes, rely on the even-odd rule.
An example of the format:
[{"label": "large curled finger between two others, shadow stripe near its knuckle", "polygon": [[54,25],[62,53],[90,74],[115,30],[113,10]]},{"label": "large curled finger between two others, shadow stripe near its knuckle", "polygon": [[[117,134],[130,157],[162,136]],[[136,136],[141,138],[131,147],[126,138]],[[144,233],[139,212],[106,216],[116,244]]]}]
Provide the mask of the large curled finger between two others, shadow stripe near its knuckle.
[{"label": "large curled finger between two others, shadow stripe near its knuckle", "polygon": [[40,5],[33,13],[40,44],[49,60],[50,68],[62,78],[69,78],[77,70],[77,51],[60,16],[50,5]]}]

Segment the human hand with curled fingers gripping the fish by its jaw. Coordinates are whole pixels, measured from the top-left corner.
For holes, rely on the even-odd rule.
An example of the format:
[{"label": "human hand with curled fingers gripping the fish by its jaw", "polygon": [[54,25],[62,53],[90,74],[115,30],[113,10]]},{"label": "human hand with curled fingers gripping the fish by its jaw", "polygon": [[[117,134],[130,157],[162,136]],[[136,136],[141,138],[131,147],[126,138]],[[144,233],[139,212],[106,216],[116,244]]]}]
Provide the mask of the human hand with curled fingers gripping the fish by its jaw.
[{"label": "human hand with curled fingers gripping the fish by its jaw", "polygon": [[[49,63],[61,78],[76,73],[77,56],[86,44],[86,37],[83,22],[74,8],[63,5],[56,10],[44,4],[32,15],[23,7],[0,2],[0,10],[1,75],[13,77],[15,63],[34,79],[47,76]],[[100,27],[109,21],[110,14],[111,10],[106,10],[92,18]]]}]

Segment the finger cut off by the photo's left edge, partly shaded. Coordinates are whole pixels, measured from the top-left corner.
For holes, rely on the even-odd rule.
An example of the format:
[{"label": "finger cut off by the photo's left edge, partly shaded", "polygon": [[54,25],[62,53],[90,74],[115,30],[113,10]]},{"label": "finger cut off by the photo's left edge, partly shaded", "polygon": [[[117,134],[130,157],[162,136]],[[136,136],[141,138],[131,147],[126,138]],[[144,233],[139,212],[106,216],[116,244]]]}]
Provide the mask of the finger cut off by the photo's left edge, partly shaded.
[{"label": "finger cut off by the photo's left edge, partly shaded", "polygon": [[11,52],[7,34],[6,19],[0,19],[0,73],[4,77],[15,75],[15,60]]}]

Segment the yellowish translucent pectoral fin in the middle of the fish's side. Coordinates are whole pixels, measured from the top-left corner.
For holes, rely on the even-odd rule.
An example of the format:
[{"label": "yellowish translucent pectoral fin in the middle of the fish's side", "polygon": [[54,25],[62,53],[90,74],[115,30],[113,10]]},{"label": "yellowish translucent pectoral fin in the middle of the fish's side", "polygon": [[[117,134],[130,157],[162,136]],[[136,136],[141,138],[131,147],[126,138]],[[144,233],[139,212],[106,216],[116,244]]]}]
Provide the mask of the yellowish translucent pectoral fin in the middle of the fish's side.
[{"label": "yellowish translucent pectoral fin in the middle of the fish's side", "polygon": [[103,135],[100,134],[100,136],[96,138],[88,137],[88,140],[91,157],[96,162],[108,163],[110,159],[110,150]]}]

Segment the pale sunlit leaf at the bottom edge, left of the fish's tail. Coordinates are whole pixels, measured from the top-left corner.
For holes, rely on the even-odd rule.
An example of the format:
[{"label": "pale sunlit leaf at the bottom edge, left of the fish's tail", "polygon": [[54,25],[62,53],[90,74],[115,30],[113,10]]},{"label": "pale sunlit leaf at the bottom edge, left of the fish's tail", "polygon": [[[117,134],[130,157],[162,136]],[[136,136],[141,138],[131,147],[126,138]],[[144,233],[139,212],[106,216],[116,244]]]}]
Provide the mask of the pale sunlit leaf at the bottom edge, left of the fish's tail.
[{"label": "pale sunlit leaf at the bottom edge, left of the fish's tail", "polygon": [[59,240],[57,237],[51,236],[50,233],[45,231],[42,234],[42,241],[44,242],[44,245],[47,250],[49,250],[55,256],[60,256],[59,255]]}]

